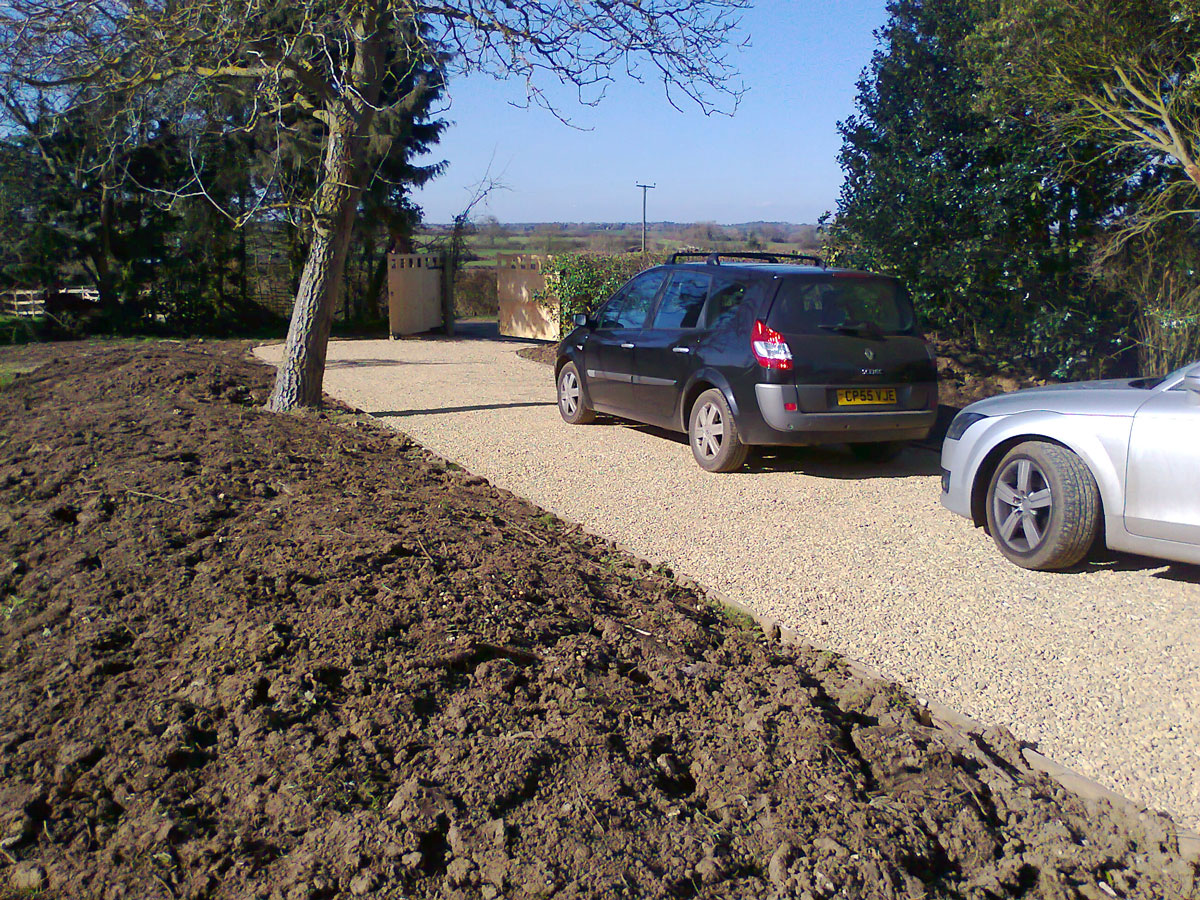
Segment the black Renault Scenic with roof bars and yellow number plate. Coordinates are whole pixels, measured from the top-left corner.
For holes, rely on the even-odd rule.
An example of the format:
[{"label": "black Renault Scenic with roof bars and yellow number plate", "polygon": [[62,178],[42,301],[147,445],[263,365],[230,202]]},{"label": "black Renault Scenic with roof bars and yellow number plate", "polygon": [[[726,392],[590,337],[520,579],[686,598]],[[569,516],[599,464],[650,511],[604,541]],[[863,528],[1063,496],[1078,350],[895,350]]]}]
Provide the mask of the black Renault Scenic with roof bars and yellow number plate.
[{"label": "black Renault Scenic with roof bars and yellow number plate", "polygon": [[937,414],[934,355],[904,286],[816,257],[677,253],[575,322],[554,366],[563,419],[686,432],[709,472],[740,468],[758,444],[889,458]]}]

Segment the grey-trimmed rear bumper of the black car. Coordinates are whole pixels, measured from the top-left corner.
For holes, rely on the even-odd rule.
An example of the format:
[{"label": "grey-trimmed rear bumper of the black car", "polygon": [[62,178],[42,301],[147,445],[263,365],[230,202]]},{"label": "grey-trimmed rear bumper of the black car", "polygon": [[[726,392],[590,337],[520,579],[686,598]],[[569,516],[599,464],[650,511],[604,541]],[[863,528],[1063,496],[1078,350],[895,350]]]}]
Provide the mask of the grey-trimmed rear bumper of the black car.
[{"label": "grey-trimmed rear bumper of the black car", "polygon": [[756,384],[755,400],[762,427],[743,428],[748,444],[835,444],[872,440],[922,440],[937,421],[932,408],[880,412],[811,413],[799,407],[797,390],[782,384]]}]

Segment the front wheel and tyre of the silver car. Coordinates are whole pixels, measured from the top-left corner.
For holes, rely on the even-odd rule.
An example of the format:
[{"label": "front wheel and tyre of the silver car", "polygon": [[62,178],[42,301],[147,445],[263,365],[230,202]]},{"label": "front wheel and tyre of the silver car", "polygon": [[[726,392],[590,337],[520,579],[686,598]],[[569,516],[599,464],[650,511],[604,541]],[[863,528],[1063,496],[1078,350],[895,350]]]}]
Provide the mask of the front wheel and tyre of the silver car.
[{"label": "front wheel and tyre of the silver car", "polygon": [[1024,569],[1067,569],[1096,542],[1100,492],[1087,463],[1058,444],[1018,444],[988,485],[988,530]]}]

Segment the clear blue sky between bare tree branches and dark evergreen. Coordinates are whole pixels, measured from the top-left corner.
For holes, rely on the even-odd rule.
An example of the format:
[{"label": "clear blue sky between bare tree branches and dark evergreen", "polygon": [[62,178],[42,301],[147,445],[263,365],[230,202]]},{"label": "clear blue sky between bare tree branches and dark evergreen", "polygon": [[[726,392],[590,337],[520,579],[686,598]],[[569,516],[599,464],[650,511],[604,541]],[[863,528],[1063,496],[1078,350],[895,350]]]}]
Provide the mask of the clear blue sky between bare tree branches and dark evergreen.
[{"label": "clear blue sky between bare tree branches and dark evergreen", "polygon": [[[836,131],[876,48],[886,0],[760,0],[742,18],[749,47],[731,54],[749,88],[737,113],[678,112],[661,83],[618,82],[598,107],[518,109],[523,82],[451,84],[452,122],[431,160],[444,175],[414,197],[427,222],[449,222],[490,172],[474,217],[502,222],[815,222],[841,185]],[[550,85],[547,85],[550,86]],[[428,161],[428,160],[426,160]]]}]

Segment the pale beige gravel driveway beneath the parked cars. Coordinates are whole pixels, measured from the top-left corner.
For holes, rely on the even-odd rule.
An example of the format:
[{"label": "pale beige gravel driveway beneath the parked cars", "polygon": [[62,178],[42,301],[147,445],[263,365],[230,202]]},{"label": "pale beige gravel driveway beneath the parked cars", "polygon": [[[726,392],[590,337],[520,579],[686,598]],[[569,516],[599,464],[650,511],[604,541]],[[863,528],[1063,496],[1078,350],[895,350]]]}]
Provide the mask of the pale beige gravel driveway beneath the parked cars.
[{"label": "pale beige gravel driveway beneath the parked cars", "polygon": [[682,437],[565,425],[550,370],[520,347],[337,341],[325,390],[802,641],[1200,826],[1200,568],[1018,569],[941,508],[937,458],[922,450],[888,466],[788,450],[710,475]]}]

